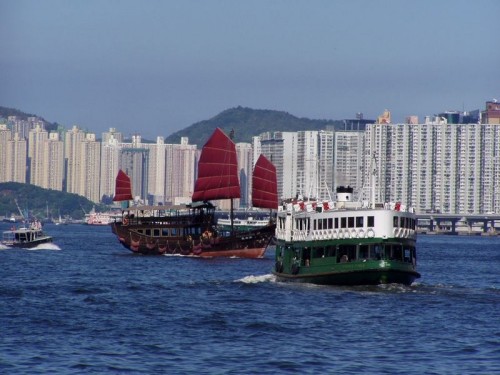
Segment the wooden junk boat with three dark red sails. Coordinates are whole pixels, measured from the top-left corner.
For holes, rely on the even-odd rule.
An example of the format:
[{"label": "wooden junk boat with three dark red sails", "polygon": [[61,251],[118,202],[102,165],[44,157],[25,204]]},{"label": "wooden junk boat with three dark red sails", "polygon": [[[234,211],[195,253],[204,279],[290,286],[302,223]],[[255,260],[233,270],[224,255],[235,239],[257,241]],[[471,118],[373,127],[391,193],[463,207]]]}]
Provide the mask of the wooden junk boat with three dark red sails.
[{"label": "wooden junk boat with three dark red sails", "polygon": [[[265,191],[260,196],[257,194],[255,206],[277,209],[276,170],[263,156],[259,160],[255,170],[265,165],[263,175],[267,180],[260,180]],[[123,208],[122,219],[112,223],[112,230],[120,243],[134,253],[261,258],[274,237],[274,223],[245,232],[217,229],[215,206],[209,201],[231,199],[232,207],[232,199],[239,197],[236,147],[217,128],[202,149],[192,203]],[[130,179],[120,171],[114,200],[130,199]]]}]

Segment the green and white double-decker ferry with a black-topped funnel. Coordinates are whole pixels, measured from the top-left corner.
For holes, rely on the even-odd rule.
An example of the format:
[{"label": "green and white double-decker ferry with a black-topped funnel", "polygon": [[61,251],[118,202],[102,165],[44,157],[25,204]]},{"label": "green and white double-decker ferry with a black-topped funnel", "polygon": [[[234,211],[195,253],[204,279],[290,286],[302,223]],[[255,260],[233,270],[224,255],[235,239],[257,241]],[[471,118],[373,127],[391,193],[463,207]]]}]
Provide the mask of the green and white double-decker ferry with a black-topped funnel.
[{"label": "green and white double-decker ferry with a black-topped funnel", "polygon": [[276,223],[278,280],[410,285],[420,277],[414,210],[400,203],[352,202],[352,192],[338,187],[335,205],[283,205]]}]

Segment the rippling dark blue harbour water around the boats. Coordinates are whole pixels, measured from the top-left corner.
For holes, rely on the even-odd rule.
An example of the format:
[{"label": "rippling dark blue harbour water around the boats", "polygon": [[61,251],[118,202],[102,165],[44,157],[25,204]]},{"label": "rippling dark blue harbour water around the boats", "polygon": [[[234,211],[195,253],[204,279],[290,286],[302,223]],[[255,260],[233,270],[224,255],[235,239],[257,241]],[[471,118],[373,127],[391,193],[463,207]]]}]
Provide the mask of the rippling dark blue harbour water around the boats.
[{"label": "rippling dark blue harbour water around the boats", "polygon": [[3,374],[500,373],[500,238],[420,236],[411,287],[323,287],[275,282],[272,251],[144,257],[108,227],[45,229],[0,251]]}]

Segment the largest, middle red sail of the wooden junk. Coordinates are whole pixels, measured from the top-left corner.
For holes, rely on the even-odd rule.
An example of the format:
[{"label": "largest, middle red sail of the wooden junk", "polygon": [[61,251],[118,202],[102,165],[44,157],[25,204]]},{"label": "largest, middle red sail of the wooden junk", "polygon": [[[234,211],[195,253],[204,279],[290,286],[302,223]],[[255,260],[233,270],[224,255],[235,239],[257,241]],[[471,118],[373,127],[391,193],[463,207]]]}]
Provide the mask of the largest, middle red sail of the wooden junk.
[{"label": "largest, middle red sail of the wooden junk", "polygon": [[201,150],[193,202],[240,197],[234,142],[217,128]]}]

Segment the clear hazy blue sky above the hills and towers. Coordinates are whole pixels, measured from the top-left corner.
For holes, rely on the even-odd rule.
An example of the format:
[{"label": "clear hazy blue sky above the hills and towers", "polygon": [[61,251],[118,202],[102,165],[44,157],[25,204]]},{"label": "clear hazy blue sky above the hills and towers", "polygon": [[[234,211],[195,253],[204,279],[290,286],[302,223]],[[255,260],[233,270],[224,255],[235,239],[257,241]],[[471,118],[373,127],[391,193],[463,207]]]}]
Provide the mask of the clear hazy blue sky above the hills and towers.
[{"label": "clear hazy blue sky above the hills and towers", "polygon": [[0,0],[0,105],[167,136],[238,105],[393,121],[500,99],[500,1]]}]

